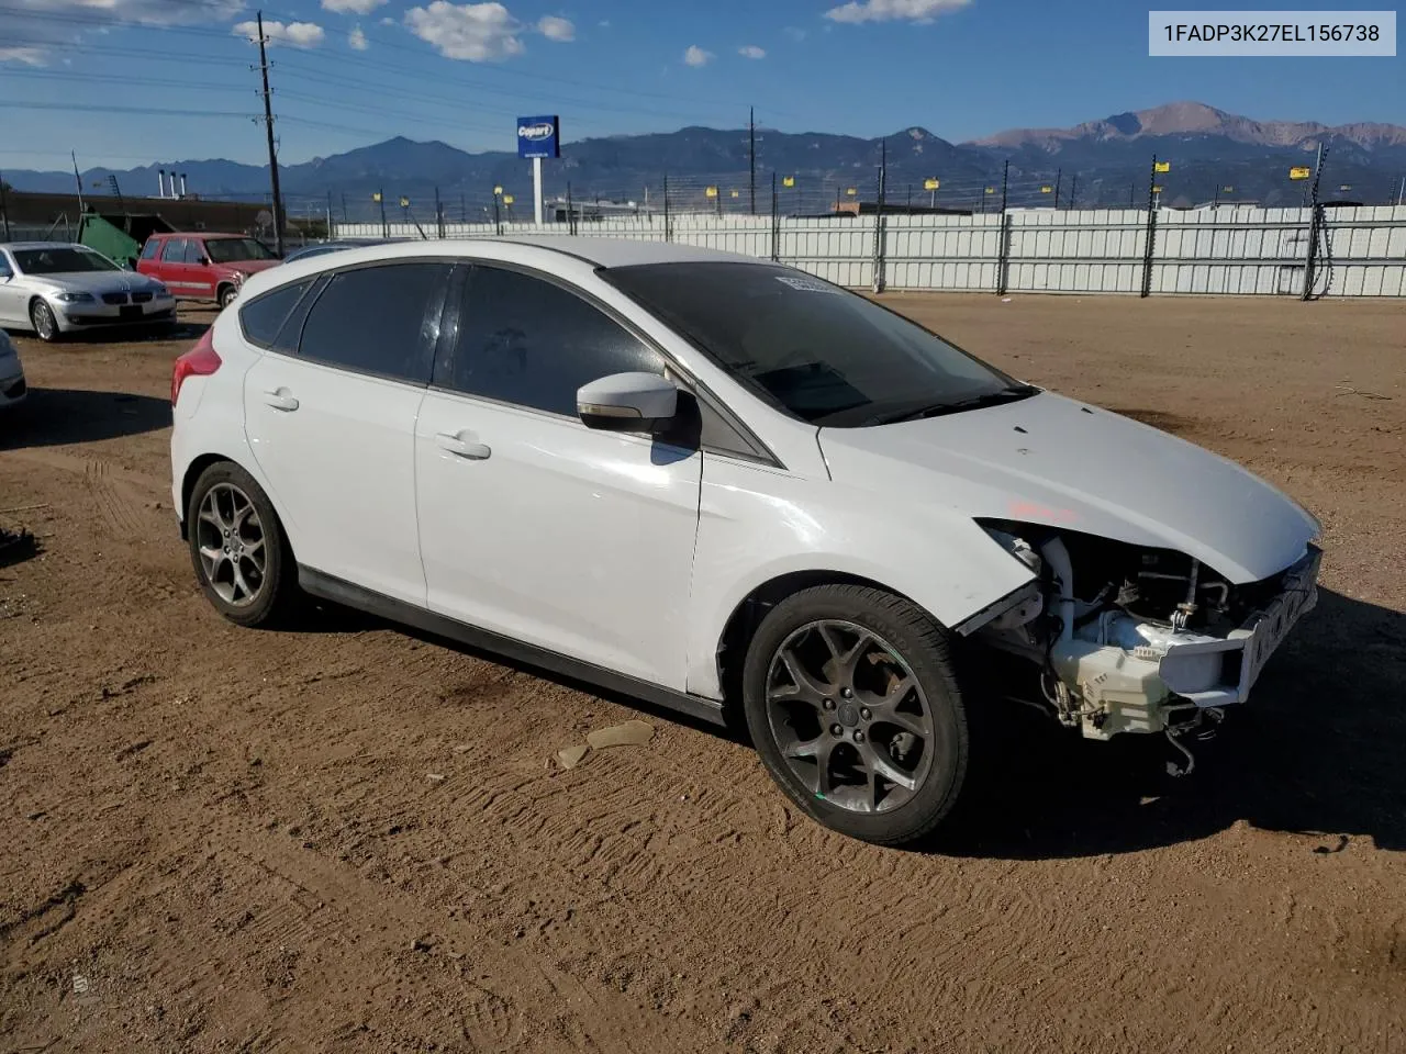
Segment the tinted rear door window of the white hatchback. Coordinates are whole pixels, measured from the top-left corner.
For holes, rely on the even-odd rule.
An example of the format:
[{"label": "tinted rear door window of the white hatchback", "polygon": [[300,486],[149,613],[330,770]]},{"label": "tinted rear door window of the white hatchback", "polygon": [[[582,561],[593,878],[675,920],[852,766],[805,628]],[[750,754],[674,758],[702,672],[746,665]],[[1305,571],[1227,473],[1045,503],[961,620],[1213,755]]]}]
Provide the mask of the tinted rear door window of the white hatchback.
[{"label": "tinted rear door window of the white hatchback", "polygon": [[447,274],[449,264],[404,263],[333,275],[308,313],[298,354],[429,384],[439,312],[426,309]]}]

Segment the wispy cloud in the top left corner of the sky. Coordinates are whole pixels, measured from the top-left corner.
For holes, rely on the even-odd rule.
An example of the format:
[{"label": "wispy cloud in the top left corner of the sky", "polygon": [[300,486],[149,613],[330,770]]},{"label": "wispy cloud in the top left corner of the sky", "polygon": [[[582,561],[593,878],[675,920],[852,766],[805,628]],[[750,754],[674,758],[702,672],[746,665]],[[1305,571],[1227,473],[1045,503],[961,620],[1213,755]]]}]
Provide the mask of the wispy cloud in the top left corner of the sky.
[{"label": "wispy cloud in the top left corner of the sky", "polygon": [[112,22],[222,22],[233,18],[243,7],[245,0],[208,0],[200,4],[190,0],[11,0],[0,15],[4,25],[0,32],[0,63],[45,66],[52,52],[82,42],[90,32],[107,32]]}]

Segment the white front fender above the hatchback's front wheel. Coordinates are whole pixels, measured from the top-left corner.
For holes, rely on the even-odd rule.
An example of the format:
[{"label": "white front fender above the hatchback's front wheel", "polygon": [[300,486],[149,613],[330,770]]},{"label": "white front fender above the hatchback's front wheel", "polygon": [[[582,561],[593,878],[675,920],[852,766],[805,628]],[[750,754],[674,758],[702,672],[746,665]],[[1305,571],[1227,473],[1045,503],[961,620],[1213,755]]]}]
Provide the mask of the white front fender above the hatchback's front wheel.
[{"label": "white front fender above the hatchback's front wheel", "polygon": [[967,516],[911,496],[704,458],[689,597],[688,690],[721,698],[717,649],[752,592],[794,572],[869,579],[957,627],[1033,576]]}]

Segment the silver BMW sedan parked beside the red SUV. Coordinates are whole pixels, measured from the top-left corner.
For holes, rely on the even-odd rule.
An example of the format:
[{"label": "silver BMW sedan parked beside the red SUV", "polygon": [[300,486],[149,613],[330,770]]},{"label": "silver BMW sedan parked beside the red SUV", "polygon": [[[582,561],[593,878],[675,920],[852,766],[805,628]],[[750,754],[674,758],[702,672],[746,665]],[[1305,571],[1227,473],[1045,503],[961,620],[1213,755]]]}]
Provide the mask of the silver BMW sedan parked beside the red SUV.
[{"label": "silver BMW sedan parked beside the red SUV", "polygon": [[67,242],[0,245],[0,326],[41,340],[103,326],[170,322],[176,301],[155,278]]}]

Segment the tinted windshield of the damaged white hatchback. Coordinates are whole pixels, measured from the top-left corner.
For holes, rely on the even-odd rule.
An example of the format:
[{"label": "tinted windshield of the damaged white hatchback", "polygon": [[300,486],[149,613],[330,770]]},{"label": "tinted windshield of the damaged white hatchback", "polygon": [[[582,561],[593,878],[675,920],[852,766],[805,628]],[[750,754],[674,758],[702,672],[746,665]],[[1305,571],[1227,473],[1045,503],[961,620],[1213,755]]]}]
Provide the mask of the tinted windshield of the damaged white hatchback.
[{"label": "tinted windshield of the damaged white hatchback", "polygon": [[901,315],[790,267],[643,264],[602,277],[813,424],[887,424],[1035,392]]}]

